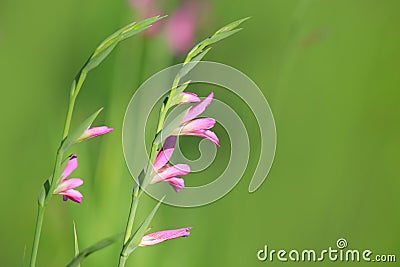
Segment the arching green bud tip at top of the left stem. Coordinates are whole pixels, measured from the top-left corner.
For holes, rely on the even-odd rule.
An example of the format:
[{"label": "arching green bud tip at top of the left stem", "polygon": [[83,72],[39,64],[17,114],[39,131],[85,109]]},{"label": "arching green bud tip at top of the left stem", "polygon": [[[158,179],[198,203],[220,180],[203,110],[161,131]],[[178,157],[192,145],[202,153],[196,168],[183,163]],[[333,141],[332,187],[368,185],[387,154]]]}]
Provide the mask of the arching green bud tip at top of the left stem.
[{"label": "arching green bud tip at top of the left stem", "polygon": [[96,68],[111,53],[111,51],[117,46],[119,42],[146,30],[147,28],[151,27],[153,23],[164,17],[166,16],[155,16],[139,22],[132,22],[122,27],[115,33],[111,34],[96,48],[93,54],[89,57],[85,66],[83,67],[83,72],[89,72],[90,70]]}]

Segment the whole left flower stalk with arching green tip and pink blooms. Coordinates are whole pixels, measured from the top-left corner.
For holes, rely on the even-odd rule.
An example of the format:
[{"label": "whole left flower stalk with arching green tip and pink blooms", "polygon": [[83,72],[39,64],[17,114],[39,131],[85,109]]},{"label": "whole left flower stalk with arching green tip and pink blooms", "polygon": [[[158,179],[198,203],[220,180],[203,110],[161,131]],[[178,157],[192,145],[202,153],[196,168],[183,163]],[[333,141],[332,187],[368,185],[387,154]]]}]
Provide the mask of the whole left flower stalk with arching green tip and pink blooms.
[{"label": "whole left flower stalk with arching green tip and pink blooms", "polygon": [[[66,119],[65,119],[65,123],[64,123],[64,130],[63,130],[63,135],[62,135],[62,139],[61,139],[62,141],[60,142],[60,146],[57,149],[56,160],[55,160],[53,172],[52,172],[51,177],[45,181],[43,188],[39,194],[38,215],[37,215],[37,220],[36,220],[36,228],[35,228],[32,253],[31,253],[31,259],[30,259],[31,267],[36,266],[36,259],[37,259],[37,253],[38,253],[38,248],[39,248],[40,235],[41,235],[41,231],[42,231],[44,213],[45,213],[46,206],[50,202],[53,194],[59,193],[59,194],[64,195],[64,199],[70,198],[71,195],[68,195],[68,193],[69,192],[76,193],[76,191],[74,191],[72,188],[74,188],[74,186],[77,186],[76,183],[81,183],[80,181],[72,180],[72,179],[71,179],[72,181],[70,180],[69,182],[64,181],[66,179],[66,177],[62,177],[64,175],[64,173],[61,172],[61,168],[62,168],[62,164],[63,164],[63,160],[64,160],[64,153],[72,145],[74,145],[76,143],[79,143],[85,139],[88,139],[88,138],[91,138],[94,136],[105,134],[109,131],[112,131],[111,128],[107,128],[107,127],[98,127],[98,128],[89,129],[89,127],[91,126],[94,119],[100,113],[101,110],[99,110],[98,112],[96,112],[92,116],[90,116],[86,121],[84,121],[80,126],[78,126],[76,130],[74,130],[72,133],[70,133],[70,126],[71,126],[72,115],[73,115],[73,111],[74,111],[74,107],[75,107],[75,101],[76,101],[76,98],[78,97],[79,91],[82,88],[82,85],[86,79],[87,74],[89,73],[90,70],[96,68],[111,53],[111,51],[116,47],[116,45],[120,41],[123,41],[143,30],[149,28],[154,22],[158,21],[159,19],[161,19],[161,18],[159,16],[157,16],[157,17],[145,19],[138,23],[133,22],[133,23],[119,29],[114,34],[110,35],[96,48],[96,50],[89,57],[89,59],[87,60],[87,62],[82,67],[82,69],[79,71],[78,75],[76,76],[75,80],[73,81],[71,90],[70,90],[70,95],[69,95],[69,104],[68,104],[67,115],[66,115]],[[106,128],[106,129],[104,129],[104,128]],[[78,179],[78,180],[80,180],[80,179]],[[60,188],[59,186],[64,186],[64,188],[63,187]],[[73,190],[73,191],[71,191],[71,190]],[[79,195],[81,197],[80,193],[79,193]],[[76,202],[78,202],[78,201],[76,201]]]}]

